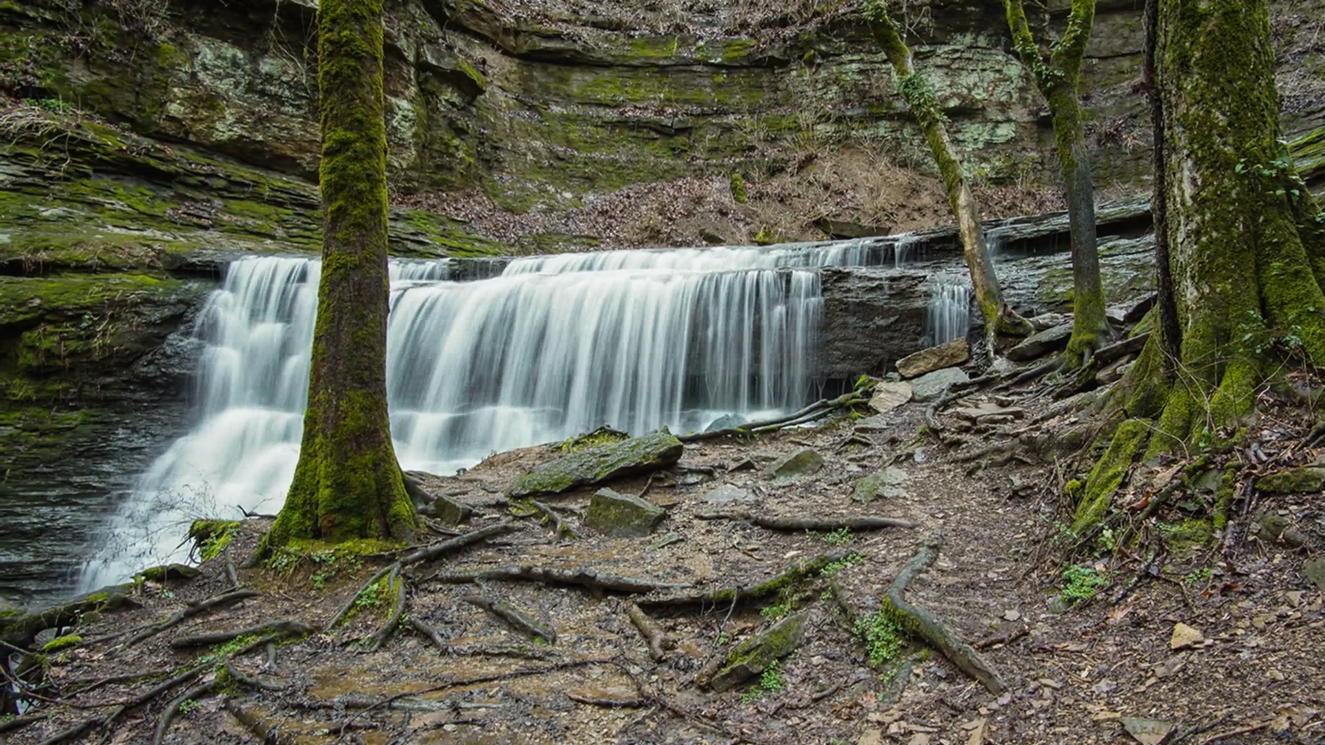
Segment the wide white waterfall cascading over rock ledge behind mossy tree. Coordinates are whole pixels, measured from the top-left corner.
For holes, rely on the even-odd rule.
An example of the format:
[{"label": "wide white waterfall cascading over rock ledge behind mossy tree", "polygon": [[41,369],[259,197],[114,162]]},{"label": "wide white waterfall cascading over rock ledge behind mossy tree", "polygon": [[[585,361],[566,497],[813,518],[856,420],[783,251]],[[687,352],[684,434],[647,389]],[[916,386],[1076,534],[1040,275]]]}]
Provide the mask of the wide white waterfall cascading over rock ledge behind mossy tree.
[{"label": "wide white waterfall cascading over rock ledge behind mossy tree", "polygon": [[[492,452],[608,424],[702,430],[815,394],[815,266],[880,262],[867,241],[518,258],[448,281],[448,261],[392,261],[387,387],[405,469],[449,473]],[[274,513],[294,473],[321,264],[231,264],[196,323],[197,424],[139,480],[82,587],[179,561],[191,520]]]}]

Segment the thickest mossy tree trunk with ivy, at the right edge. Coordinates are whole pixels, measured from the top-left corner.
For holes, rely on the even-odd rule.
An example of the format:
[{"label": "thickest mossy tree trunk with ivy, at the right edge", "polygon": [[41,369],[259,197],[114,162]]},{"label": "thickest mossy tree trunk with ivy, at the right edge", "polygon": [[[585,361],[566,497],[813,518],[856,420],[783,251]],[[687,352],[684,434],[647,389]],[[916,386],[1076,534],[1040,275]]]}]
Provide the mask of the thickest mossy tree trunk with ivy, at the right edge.
[{"label": "thickest mossy tree trunk with ivy, at the right edge", "polygon": [[1322,216],[1279,142],[1267,0],[1158,0],[1155,78],[1178,359],[1150,337],[1077,522],[1140,453],[1236,439],[1285,358],[1325,365]]}]

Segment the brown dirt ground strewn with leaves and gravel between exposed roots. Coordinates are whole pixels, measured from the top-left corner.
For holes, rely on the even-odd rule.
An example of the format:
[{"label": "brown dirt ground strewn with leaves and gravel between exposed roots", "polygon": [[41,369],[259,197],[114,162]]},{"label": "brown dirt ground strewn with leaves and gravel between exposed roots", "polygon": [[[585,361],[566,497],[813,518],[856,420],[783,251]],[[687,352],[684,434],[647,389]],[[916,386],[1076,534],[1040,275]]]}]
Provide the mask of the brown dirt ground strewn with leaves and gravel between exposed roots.
[{"label": "brown dirt ground strewn with leaves and gravel between exposed roots", "polygon": [[[977,394],[962,406],[980,399]],[[1023,403],[1030,416],[1043,406]],[[260,597],[117,650],[130,630],[225,593],[231,581],[221,558],[204,563],[196,579],[144,585],[134,598],[136,608],[85,620],[76,631],[81,644],[48,652],[42,661],[49,683],[42,696],[77,708],[40,705],[34,712],[49,718],[8,737],[15,744],[52,742],[196,665],[196,673],[117,715],[109,741],[151,742],[172,703],[180,713],[164,742],[1102,744],[1159,742],[1155,737],[1165,728],[1171,728],[1165,742],[1325,741],[1325,718],[1317,711],[1325,709],[1325,668],[1317,661],[1325,648],[1321,590],[1301,573],[1304,559],[1322,546],[1320,494],[1257,505],[1302,529],[1306,546],[1300,550],[1247,540],[1227,550],[1218,546],[1185,559],[1161,554],[1146,563],[1140,547],[1122,547],[1098,566],[1088,554],[1076,554],[1076,590],[1089,590],[1096,573],[1110,583],[1064,612],[1055,598],[1067,585],[1068,565],[1055,537],[1065,520],[1061,485],[1075,472],[1063,463],[966,463],[958,453],[992,435],[966,435],[973,443],[957,453],[934,437],[917,437],[922,404],[893,411],[882,426],[876,422],[844,419],[746,441],[697,443],[686,445],[665,479],[613,483],[623,493],[647,487],[645,497],[668,509],[648,538],[608,540],[584,529],[575,509],[587,504],[592,489],[554,504],[570,508],[567,522],[579,540],[559,540],[554,526],[537,517],[513,517],[505,498],[485,488],[507,485],[556,449],[496,456],[429,488],[464,492],[456,498],[476,506],[465,530],[513,518],[518,529],[457,551],[449,562],[417,567],[408,618],[380,650],[362,651],[355,640],[371,636],[388,618],[390,593],[363,595],[347,623],[282,642],[270,652],[262,643],[240,651],[250,638],[171,648],[183,636],[278,619],[321,630],[387,563],[330,557],[241,570],[241,585]],[[1285,436],[1300,436],[1304,431],[1291,430],[1298,424],[1285,424]],[[1069,426],[1056,420],[1045,431],[1059,436]],[[772,457],[807,447],[824,456],[818,473],[787,484],[762,480],[759,469]],[[747,460],[754,468],[742,465]],[[853,481],[888,464],[894,493],[853,502]],[[905,475],[901,484],[897,472]],[[753,501],[741,506],[761,514],[886,516],[917,528],[807,534],[701,520],[716,509],[706,494],[722,484],[746,490]],[[236,561],[246,555],[264,528],[262,521],[245,524],[229,554]],[[942,551],[912,583],[908,598],[966,640],[983,642],[982,654],[1008,684],[1002,695],[914,643],[871,667],[861,630],[843,611],[840,601],[856,615],[876,610],[917,544],[935,533],[943,537]],[[735,606],[659,608],[643,602],[652,595],[428,578],[534,565],[727,587],[839,549],[848,558],[796,585],[792,594]],[[476,591],[550,626],[555,642],[535,643],[461,599]],[[628,619],[632,599],[674,642],[661,661],[651,659]],[[806,614],[806,642],[780,663],[780,672],[722,693],[694,685],[701,668],[730,644],[798,612]],[[1177,623],[1195,628],[1199,640],[1173,650]],[[421,627],[436,631],[448,650],[440,651]],[[996,643],[1000,636],[1011,640]],[[880,642],[877,648],[886,648],[889,639]],[[103,681],[152,671],[159,673]],[[213,680],[211,689],[186,696]],[[1136,738],[1126,734],[1125,721]],[[97,725],[68,741],[101,741],[105,730]],[[1219,737],[1236,730],[1244,732]]]}]

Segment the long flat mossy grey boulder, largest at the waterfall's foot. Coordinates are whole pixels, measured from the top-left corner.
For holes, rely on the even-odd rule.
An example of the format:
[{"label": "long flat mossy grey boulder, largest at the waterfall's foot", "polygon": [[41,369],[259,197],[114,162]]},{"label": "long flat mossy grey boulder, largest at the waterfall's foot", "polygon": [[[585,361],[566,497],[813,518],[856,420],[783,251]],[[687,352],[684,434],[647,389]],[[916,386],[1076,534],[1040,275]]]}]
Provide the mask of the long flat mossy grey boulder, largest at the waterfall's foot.
[{"label": "long flat mossy grey boulder, largest at the waterfall's foot", "polygon": [[620,476],[648,473],[681,460],[685,447],[666,430],[539,464],[510,488],[511,497],[558,494]]}]

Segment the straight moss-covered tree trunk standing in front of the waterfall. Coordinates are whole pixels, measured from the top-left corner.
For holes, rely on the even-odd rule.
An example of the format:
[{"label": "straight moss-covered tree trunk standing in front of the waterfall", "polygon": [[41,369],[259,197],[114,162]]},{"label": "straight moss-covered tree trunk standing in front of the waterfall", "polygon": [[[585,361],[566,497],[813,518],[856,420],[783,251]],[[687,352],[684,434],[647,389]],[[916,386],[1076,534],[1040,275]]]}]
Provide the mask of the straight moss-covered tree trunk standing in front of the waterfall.
[{"label": "straight moss-covered tree trunk standing in front of the waterfall", "polygon": [[294,483],[268,544],[408,540],[413,505],[387,419],[383,0],[322,0],[322,281]]}]

